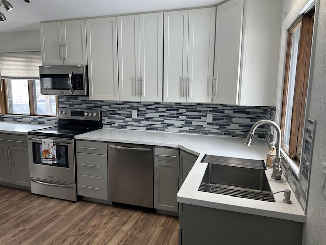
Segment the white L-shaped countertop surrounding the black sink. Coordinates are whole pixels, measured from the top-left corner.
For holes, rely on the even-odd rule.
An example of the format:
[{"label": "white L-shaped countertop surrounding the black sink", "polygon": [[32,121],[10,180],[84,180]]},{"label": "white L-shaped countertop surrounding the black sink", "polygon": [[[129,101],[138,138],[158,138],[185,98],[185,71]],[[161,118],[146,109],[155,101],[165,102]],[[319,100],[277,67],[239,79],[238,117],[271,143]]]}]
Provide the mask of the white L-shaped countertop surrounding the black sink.
[{"label": "white L-shaped countertop surrounding the black sink", "polygon": [[207,167],[207,163],[200,162],[205,154],[266,161],[268,148],[263,140],[254,139],[248,147],[242,144],[243,138],[110,128],[80,134],[75,138],[179,148],[198,156],[198,159],[177,194],[178,202],[301,223],[306,221],[306,216],[284,176],[281,180],[271,179],[271,169],[266,170],[271,190],[291,190],[292,204],[283,203],[284,193],[275,194],[276,202],[272,203],[198,191]]}]

